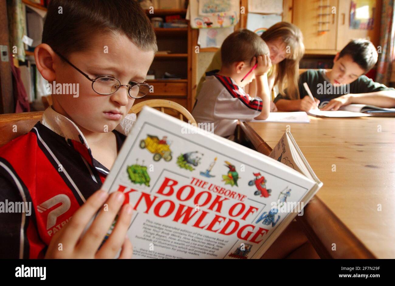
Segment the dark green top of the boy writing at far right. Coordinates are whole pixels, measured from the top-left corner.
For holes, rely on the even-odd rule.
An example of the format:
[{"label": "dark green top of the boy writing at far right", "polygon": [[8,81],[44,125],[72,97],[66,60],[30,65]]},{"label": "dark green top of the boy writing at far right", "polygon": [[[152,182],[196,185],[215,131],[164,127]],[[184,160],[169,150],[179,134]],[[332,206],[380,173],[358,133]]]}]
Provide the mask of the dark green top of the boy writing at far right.
[{"label": "dark green top of the boy writing at far right", "polygon": [[[307,95],[305,87],[303,86],[304,82],[307,82],[308,88],[310,88],[313,97],[320,100],[320,106],[328,103],[331,99],[348,93],[370,93],[379,92],[381,90],[395,91],[393,88],[387,88],[384,84],[374,82],[365,75],[361,75],[350,84],[333,86],[330,80],[326,77],[324,69],[309,69],[299,76],[299,94],[301,98]],[[274,102],[276,103],[279,99],[289,98],[278,94]]]}]

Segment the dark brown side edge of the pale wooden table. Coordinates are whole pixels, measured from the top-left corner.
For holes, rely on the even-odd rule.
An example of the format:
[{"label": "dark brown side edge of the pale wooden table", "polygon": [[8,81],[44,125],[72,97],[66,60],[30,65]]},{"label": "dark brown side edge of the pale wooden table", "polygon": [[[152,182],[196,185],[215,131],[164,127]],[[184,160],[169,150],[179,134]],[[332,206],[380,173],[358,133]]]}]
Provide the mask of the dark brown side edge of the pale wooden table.
[{"label": "dark brown side edge of the pale wooden table", "polygon": [[[271,147],[248,122],[239,122],[239,126],[258,152],[269,155]],[[317,196],[308,202],[296,221],[320,258],[376,258]]]}]

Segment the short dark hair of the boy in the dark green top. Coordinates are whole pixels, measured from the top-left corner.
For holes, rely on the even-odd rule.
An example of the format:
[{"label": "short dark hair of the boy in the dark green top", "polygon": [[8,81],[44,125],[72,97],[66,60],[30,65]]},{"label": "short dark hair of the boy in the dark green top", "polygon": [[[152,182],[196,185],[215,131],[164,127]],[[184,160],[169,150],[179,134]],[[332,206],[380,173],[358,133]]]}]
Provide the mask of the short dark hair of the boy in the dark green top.
[{"label": "short dark hair of the boy in the dark green top", "polygon": [[350,41],[339,54],[339,58],[349,55],[361,69],[367,73],[377,62],[378,53],[371,41],[365,39],[355,39]]}]

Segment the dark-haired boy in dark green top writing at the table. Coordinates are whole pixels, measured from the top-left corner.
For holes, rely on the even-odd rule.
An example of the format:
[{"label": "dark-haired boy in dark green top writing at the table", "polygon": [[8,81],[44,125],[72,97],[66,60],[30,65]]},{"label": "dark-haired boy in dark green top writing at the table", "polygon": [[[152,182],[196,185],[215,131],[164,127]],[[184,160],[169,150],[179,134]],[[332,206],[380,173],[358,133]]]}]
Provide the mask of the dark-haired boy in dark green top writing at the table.
[{"label": "dark-haired boy in dark green top writing at the table", "polygon": [[312,96],[290,99],[287,94],[279,94],[274,102],[284,111],[308,111],[317,105],[321,110],[338,110],[352,103],[395,107],[395,90],[364,75],[374,67],[377,58],[376,48],[370,41],[350,41],[335,56],[331,71],[310,69],[300,75],[300,95],[308,93],[309,88]]}]

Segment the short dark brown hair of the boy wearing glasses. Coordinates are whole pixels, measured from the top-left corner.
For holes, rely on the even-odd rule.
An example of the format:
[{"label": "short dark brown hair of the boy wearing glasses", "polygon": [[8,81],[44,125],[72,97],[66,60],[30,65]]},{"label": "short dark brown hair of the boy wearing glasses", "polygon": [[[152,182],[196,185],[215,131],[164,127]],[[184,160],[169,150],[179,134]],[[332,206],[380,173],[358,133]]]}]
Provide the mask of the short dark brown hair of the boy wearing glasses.
[{"label": "short dark brown hair of the boy wearing glasses", "polygon": [[135,0],[51,0],[42,43],[68,56],[108,32],[126,35],[140,49],[158,50],[154,29]]}]

